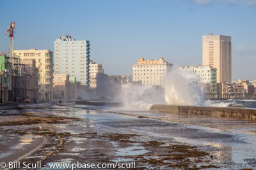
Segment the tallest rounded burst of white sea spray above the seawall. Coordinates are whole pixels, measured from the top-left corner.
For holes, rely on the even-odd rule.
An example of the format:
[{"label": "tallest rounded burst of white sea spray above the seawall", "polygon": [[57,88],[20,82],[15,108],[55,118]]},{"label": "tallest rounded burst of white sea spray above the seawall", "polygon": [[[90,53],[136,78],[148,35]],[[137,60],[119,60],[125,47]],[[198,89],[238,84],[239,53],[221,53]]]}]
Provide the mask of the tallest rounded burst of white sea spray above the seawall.
[{"label": "tallest rounded burst of white sea spray above the seawall", "polygon": [[188,71],[176,70],[163,78],[164,98],[172,105],[201,106],[204,103],[200,78]]}]

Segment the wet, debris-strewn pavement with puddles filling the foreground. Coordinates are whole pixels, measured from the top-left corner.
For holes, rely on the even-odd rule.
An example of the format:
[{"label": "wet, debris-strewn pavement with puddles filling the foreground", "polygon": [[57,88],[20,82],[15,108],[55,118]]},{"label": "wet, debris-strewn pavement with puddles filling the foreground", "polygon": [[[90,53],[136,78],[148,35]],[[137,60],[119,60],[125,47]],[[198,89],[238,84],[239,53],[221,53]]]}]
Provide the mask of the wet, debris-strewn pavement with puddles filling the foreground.
[{"label": "wet, debris-strewn pavement with puddles filling the foreground", "polygon": [[[19,111],[0,115],[0,162],[21,157],[23,162],[42,161],[41,169],[77,161],[135,161],[135,169],[256,167],[256,122],[76,107],[25,104]],[[20,150],[20,155],[13,150]]]}]

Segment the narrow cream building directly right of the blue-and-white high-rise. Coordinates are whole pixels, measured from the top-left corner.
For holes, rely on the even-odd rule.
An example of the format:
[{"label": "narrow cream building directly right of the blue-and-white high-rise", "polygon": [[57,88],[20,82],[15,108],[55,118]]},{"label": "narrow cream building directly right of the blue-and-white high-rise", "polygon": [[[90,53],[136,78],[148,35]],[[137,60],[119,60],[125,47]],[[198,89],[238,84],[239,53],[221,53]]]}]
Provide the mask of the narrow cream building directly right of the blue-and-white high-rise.
[{"label": "narrow cream building directly right of the blue-and-white high-rise", "polygon": [[90,60],[90,89],[96,89],[97,88],[97,74],[103,73],[104,69],[102,69],[102,64],[97,64],[96,62],[93,62]]}]

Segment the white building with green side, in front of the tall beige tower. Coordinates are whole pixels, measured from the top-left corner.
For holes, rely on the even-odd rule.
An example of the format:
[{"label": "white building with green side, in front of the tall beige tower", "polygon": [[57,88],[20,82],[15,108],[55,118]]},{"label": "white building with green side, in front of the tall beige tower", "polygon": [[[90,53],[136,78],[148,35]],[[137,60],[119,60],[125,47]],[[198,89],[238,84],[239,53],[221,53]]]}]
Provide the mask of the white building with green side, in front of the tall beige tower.
[{"label": "white building with green side, in front of the tall beige tower", "polygon": [[211,94],[211,98],[214,97],[214,94],[217,94],[216,68],[211,66],[182,66],[180,70],[198,75],[200,83],[207,84],[205,87],[209,87],[206,88],[206,93]]}]

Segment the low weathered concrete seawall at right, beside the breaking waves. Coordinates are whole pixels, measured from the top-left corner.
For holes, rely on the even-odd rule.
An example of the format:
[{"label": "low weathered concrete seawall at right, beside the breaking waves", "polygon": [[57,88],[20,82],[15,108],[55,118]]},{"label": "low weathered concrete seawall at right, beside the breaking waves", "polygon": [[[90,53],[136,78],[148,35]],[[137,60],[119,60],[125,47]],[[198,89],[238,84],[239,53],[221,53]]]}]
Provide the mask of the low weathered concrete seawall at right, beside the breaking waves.
[{"label": "low weathered concrete seawall at right, beside the breaking waves", "polygon": [[203,106],[173,106],[154,104],[150,110],[173,114],[193,114],[208,117],[235,118],[240,120],[256,120],[256,110],[248,108],[220,108]]}]

